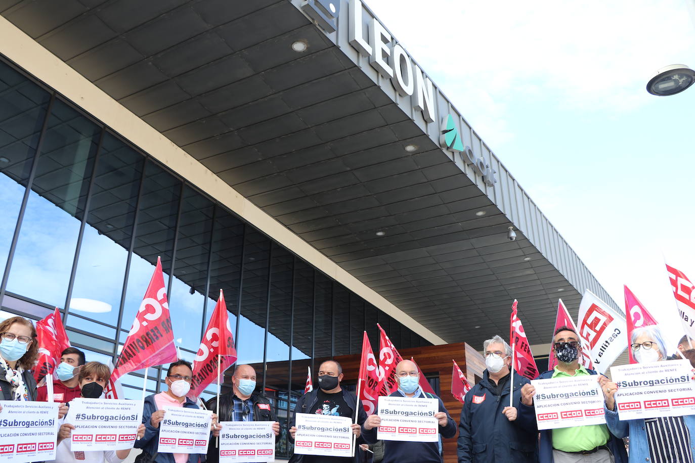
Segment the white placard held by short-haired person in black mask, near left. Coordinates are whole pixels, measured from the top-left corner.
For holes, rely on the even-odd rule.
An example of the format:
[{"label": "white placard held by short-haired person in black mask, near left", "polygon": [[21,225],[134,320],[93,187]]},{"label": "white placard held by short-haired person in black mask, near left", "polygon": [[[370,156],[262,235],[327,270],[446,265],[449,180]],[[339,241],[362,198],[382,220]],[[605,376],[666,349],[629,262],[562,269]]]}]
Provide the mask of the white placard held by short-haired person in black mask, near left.
[{"label": "white placard held by short-haired person in black mask, near left", "polygon": [[65,423],[72,430],[72,451],[126,450],[133,447],[142,423],[142,401],[75,398]]}]

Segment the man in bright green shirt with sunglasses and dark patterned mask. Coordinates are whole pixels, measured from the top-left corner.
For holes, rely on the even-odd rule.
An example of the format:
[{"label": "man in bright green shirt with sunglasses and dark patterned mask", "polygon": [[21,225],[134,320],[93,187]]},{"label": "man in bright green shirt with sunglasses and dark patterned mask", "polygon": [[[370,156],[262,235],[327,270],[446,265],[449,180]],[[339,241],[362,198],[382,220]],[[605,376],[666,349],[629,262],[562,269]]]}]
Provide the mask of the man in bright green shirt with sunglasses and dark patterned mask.
[{"label": "man in bright green shirt with sunglasses and dark patterned mask", "polygon": [[[541,373],[537,379],[572,378],[596,375],[596,371],[579,364],[582,346],[573,328],[562,326],[553,337],[553,353],[557,357],[555,369]],[[598,379],[598,378],[597,378]],[[521,388],[520,413],[532,410],[533,385]],[[625,463],[628,455],[622,439],[611,434],[605,424],[574,426],[541,430],[539,462],[541,463]]]}]

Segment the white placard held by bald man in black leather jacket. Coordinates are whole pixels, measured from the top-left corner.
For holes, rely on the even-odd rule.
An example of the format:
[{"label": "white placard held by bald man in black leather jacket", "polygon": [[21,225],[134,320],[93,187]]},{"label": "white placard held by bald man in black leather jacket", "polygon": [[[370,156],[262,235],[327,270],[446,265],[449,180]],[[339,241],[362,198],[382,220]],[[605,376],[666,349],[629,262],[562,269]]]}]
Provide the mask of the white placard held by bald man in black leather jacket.
[{"label": "white placard held by bald man in black leather jacket", "polygon": [[275,462],[272,421],[222,421],[220,463]]}]

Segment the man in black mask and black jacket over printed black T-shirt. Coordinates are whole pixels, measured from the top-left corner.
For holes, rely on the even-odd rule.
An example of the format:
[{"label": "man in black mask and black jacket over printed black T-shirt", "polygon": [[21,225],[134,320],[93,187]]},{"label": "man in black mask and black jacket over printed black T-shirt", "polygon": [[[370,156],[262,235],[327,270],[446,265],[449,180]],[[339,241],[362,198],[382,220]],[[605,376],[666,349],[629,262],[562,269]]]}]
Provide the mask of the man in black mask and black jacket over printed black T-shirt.
[{"label": "man in black mask and black jacket over printed black T-shirt", "polygon": [[[318,367],[318,387],[307,392],[297,400],[295,412],[290,420],[290,439],[295,440],[297,413],[334,414],[347,416],[354,421],[354,411],[357,407],[357,423],[352,424],[352,432],[357,436],[356,446],[363,444],[361,425],[367,418],[362,403],[357,396],[341,387],[343,367],[335,360],[326,360]],[[318,455],[292,455],[290,463],[357,463],[359,448],[354,457],[329,457]]]}]

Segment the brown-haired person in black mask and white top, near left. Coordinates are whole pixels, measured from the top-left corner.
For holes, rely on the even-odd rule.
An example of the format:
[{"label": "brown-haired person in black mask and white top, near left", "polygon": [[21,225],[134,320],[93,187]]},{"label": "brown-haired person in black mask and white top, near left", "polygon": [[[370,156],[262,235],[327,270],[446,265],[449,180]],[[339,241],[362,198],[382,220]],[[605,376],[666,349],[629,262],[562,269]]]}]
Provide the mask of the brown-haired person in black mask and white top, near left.
[{"label": "brown-haired person in black mask and white top, near left", "polygon": [[[100,398],[109,376],[111,376],[111,370],[103,363],[88,362],[84,364],[77,377],[81,387],[81,396],[83,398]],[[63,423],[60,426],[56,460],[46,463],[120,463],[130,455],[130,448],[118,451],[73,452],[70,448],[72,444],[70,435],[74,428],[70,423]],[[145,425],[141,424],[138,428],[138,439],[144,434]]]}]

